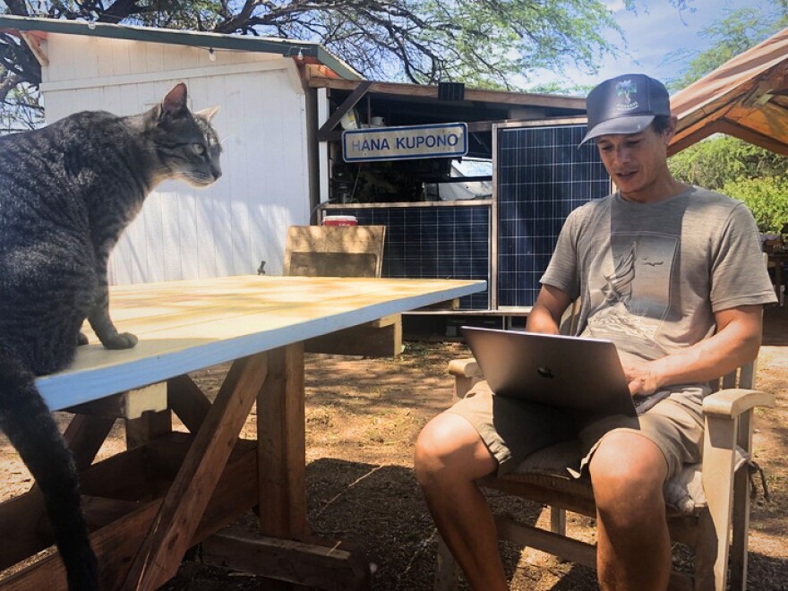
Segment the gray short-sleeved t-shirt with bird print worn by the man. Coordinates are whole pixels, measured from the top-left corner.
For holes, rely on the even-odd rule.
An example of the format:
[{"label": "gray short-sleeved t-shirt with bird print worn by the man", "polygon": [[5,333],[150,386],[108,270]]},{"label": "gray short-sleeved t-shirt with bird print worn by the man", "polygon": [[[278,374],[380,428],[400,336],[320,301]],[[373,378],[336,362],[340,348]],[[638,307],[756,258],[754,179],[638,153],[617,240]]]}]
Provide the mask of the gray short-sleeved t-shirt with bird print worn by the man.
[{"label": "gray short-sleeved t-shirt with bird print worn by the man", "polygon": [[541,281],[580,296],[583,336],[645,360],[713,334],[715,312],[776,302],[752,214],[698,187],[648,204],[613,193],[572,211]]}]

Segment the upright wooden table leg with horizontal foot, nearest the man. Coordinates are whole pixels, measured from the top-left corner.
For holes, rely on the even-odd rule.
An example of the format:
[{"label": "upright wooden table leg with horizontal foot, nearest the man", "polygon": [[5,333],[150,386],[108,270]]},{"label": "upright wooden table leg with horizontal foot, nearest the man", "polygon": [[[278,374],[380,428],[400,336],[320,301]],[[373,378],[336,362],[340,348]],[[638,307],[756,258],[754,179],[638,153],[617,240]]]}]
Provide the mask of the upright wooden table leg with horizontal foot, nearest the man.
[{"label": "upright wooden table leg with horizontal foot, nearest the man", "polygon": [[203,560],[266,577],[261,588],[369,588],[369,561],[344,544],[313,539],[306,520],[304,347],[269,352],[257,398],[257,465],[262,535],[231,529],[202,544]]}]

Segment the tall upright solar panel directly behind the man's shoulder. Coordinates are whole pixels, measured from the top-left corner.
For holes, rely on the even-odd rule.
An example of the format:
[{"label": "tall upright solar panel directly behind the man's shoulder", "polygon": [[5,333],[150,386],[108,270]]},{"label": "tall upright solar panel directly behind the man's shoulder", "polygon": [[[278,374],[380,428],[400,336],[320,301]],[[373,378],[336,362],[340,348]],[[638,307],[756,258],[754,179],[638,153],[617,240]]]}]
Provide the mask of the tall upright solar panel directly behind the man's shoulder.
[{"label": "tall upright solar panel directly behind the man's shoulder", "polygon": [[503,127],[497,139],[498,306],[533,305],[571,210],[610,193],[585,124]]}]

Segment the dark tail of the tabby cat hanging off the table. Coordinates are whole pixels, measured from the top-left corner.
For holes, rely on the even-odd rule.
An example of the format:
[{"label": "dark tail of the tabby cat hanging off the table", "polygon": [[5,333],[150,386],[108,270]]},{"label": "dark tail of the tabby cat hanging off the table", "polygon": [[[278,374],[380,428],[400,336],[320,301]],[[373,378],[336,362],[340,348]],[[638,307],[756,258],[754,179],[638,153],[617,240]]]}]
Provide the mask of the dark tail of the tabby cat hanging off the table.
[{"label": "dark tail of the tabby cat hanging off the table", "polygon": [[98,589],[99,566],[81,512],[73,457],[34,380],[21,360],[0,350],[0,429],[44,495],[68,588]]}]

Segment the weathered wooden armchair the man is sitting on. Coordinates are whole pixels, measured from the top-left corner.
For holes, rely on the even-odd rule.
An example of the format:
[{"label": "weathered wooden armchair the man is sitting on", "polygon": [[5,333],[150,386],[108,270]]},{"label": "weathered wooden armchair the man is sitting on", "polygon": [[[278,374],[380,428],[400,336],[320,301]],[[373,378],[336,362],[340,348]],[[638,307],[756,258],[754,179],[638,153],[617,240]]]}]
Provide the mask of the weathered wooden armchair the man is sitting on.
[{"label": "weathered wooden armchair the man is sitting on", "polygon": [[[577,314],[572,315],[576,318]],[[571,324],[573,321],[570,321]],[[562,323],[562,328],[567,322]],[[570,332],[571,334],[571,332]],[[462,398],[483,378],[475,360],[457,359],[449,364],[455,377],[455,399]],[[747,542],[749,534],[749,459],[754,407],[773,407],[772,394],[752,390],[755,362],[725,375],[715,393],[703,401],[706,423],[703,462],[687,465],[665,484],[668,526],[675,542],[695,551],[693,575],[671,573],[671,589],[696,591],[725,588],[728,556],[731,557],[731,589],[747,586]],[[511,474],[487,476],[479,481],[550,510],[550,530],[496,516],[501,539],[549,552],[564,560],[595,568],[592,544],[566,535],[566,511],[595,517],[594,491],[590,480],[572,479],[564,469],[580,455],[576,441],[540,450]],[[729,547],[729,541],[730,543]],[[442,539],[438,543],[438,568],[434,588],[457,587],[458,564]]]}]

